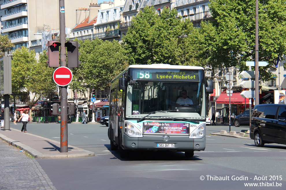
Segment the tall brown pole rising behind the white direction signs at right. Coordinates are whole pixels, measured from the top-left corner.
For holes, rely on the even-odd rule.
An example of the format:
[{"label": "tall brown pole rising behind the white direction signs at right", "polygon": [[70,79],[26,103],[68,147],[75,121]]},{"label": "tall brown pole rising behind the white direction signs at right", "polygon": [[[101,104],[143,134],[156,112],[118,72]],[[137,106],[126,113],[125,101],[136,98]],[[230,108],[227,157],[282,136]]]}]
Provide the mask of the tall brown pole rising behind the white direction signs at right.
[{"label": "tall brown pole rising behind the white direction signs at right", "polygon": [[259,104],[258,0],[255,0],[255,105]]}]

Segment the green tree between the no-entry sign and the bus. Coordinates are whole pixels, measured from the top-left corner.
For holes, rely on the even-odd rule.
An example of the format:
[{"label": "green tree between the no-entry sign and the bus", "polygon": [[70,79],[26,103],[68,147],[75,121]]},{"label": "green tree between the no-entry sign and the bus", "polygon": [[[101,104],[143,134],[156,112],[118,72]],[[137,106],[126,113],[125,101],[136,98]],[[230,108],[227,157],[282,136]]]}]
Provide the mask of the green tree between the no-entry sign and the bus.
[{"label": "green tree between the no-entry sign and the bus", "polygon": [[[73,80],[70,88],[81,92],[90,106],[88,89],[109,90],[111,80],[128,65],[124,50],[118,41],[79,41],[79,60],[81,64],[73,69]],[[107,94],[107,93],[106,93]]]}]

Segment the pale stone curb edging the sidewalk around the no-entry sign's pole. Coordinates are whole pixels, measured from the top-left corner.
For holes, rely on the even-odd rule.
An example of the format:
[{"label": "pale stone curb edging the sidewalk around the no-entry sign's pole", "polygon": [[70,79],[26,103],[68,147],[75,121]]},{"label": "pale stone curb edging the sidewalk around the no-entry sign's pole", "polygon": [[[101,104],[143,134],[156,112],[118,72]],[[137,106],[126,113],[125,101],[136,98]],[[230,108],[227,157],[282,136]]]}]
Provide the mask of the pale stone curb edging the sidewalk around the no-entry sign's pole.
[{"label": "pale stone curb edging the sidewalk around the no-entry sign's pole", "polygon": [[[14,129],[14,130],[16,130],[16,129]],[[20,130],[17,130],[17,131],[20,131]],[[29,134],[29,135],[33,135],[33,134]],[[60,145],[60,143],[55,141],[55,140],[51,140],[51,139],[44,138],[44,137],[37,136],[37,135],[33,135],[33,136],[49,140],[49,141],[51,141],[53,143],[57,143],[57,144]],[[70,154],[67,154],[67,153],[43,154],[43,153],[37,151],[36,149],[33,149],[33,148],[31,148],[31,147],[29,147],[27,145],[24,145],[24,144],[22,144],[22,143],[20,143],[20,142],[18,142],[16,140],[8,138],[7,136],[5,136],[3,134],[0,134],[0,138],[2,140],[6,141],[7,143],[9,143],[10,145],[12,145],[14,147],[18,147],[19,149],[28,152],[30,155],[32,155],[35,158],[77,158],[77,157],[95,156],[94,152],[87,151],[87,150],[84,150],[84,149],[80,149],[80,148],[77,148],[77,147],[74,147],[74,146],[68,146],[68,147],[73,148],[73,151],[82,151],[84,153],[76,153],[76,154],[73,154],[73,153],[70,153]]]}]

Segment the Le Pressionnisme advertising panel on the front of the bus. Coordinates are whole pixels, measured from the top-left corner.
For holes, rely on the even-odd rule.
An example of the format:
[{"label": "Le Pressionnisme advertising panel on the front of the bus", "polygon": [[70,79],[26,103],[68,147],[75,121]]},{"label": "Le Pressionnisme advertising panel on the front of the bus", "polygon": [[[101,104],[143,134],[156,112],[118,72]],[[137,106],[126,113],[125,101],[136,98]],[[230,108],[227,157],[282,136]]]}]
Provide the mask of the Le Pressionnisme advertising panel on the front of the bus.
[{"label": "Le Pressionnisme advertising panel on the front of the bus", "polygon": [[166,123],[166,122],[144,122],[144,133],[169,133],[189,134],[190,124],[187,123]]}]

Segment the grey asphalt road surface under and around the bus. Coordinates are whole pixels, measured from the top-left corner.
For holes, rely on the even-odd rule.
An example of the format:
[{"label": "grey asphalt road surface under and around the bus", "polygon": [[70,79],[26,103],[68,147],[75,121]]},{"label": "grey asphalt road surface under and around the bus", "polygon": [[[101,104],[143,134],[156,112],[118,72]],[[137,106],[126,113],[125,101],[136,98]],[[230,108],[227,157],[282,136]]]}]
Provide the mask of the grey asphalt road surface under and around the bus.
[{"label": "grey asphalt road surface under and around the bus", "polygon": [[[247,127],[231,128],[242,129]],[[260,148],[250,139],[209,135],[220,130],[229,126],[207,126],[206,149],[195,151],[193,158],[181,152],[134,152],[121,159],[118,151],[110,151],[106,126],[68,124],[68,145],[96,156],[36,161],[58,190],[286,189],[285,145]],[[28,124],[27,131],[60,141],[60,124]],[[260,187],[246,187],[248,183]]]}]

